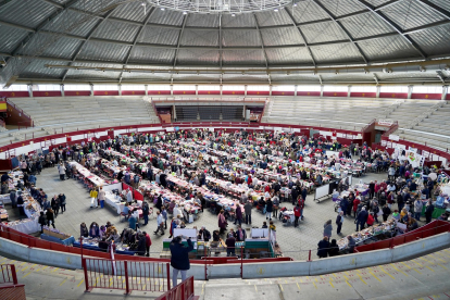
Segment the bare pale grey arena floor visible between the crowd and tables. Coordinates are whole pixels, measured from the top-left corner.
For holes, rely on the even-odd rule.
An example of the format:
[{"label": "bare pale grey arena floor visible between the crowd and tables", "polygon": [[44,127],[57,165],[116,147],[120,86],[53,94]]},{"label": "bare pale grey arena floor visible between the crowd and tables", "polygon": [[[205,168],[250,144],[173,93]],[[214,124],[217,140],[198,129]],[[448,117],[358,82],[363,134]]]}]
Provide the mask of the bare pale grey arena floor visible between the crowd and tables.
[{"label": "bare pale grey arena floor visible between the crowd and tables", "polygon": [[[368,173],[361,177],[365,183],[370,180],[383,180],[387,175]],[[359,178],[354,178],[359,180]],[[40,175],[37,176],[37,187],[42,188],[49,199],[60,192],[65,193],[67,198],[66,212],[58,215],[55,218],[55,226],[58,229],[73,235],[75,238],[79,238],[79,224],[85,222],[88,226],[91,222],[97,222],[99,225],[104,225],[108,221],[114,224],[120,232],[128,225],[127,222],[120,222],[117,213],[105,205],[104,209],[90,209],[90,198],[88,190],[84,186],[74,180],[67,179],[61,182],[59,179],[57,168],[46,168]],[[152,205],[152,204],[151,204]],[[396,205],[396,204],[395,204]],[[283,202],[280,207],[292,208],[291,203]],[[397,209],[397,207],[395,207]],[[300,226],[295,228],[292,225],[284,225],[278,220],[273,220],[277,227],[277,241],[284,252],[285,257],[291,257],[295,260],[305,260],[309,255],[309,250],[312,249],[312,258],[316,258],[317,242],[323,237],[323,225],[327,220],[333,220],[333,236],[332,238],[339,239],[346,235],[352,234],[355,229],[353,217],[346,217],[343,222],[341,236],[336,234],[335,225],[336,213],[334,210],[334,203],[332,199],[326,199],[320,203],[314,201],[314,195],[309,195],[307,198],[307,205],[304,208],[304,220],[300,222]],[[11,215],[14,218],[14,214]],[[252,226],[261,227],[265,220],[265,215],[258,212],[255,209],[252,211]],[[140,221],[142,224],[142,221]],[[422,223],[422,222],[421,222]],[[168,224],[167,224],[168,225]],[[420,224],[422,225],[422,224]],[[210,211],[204,211],[200,214],[200,218],[192,224],[187,224],[187,227],[205,226],[209,230],[218,228],[217,217]],[[229,223],[228,228],[237,227],[233,223]],[[242,224],[242,227],[250,230],[250,225]],[[150,234],[152,239],[152,246],[150,248],[151,257],[159,258],[162,251],[162,239],[168,237],[168,230],[164,236],[154,235],[153,232],[157,228],[155,217],[150,217],[147,226],[141,226],[142,230]]]}]

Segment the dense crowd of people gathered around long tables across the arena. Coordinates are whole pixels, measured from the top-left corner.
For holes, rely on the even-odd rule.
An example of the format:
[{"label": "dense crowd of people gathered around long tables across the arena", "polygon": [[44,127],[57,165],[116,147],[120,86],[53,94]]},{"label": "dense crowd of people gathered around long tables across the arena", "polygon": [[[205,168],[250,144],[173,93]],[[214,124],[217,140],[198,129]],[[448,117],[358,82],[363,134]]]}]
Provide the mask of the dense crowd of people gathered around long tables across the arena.
[{"label": "dense crowd of people gathered around long tables across the arena", "polygon": [[[336,151],[337,154],[327,157],[326,150],[328,149]],[[123,157],[114,155],[111,150],[122,153]],[[145,154],[138,154],[138,152]],[[349,160],[351,158],[353,160]],[[315,187],[335,179],[337,177],[335,171],[339,171],[339,167],[341,167],[341,177],[346,178],[347,171],[342,167],[346,164],[349,167],[358,164],[364,170],[371,167],[374,172],[387,172],[388,179],[382,183],[371,182],[367,197],[361,197],[358,190],[343,197],[335,221],[338,234],[341,232],[343,217],[350,215],[353,215],[355,220],[357,230],[364,228],[365,225],[379,222],[378,217],[380,216],[383,220],[387,220],[391,215],[391,217],[399,217],[400,222],[408,222],[409,228],[414,228],[417,226],[414,220],[418,221],[417,213],[421,209],[416,200],[422,200],[423,195],[429,199],[428,197],[434,193],[435,183],[428,179],[424,189],[417,193],[417,183],[412,178],[414,168],[408,164],[408,161],[392,160],[387,152],[373,150],[364,143],[361,146],[351,143],[348,147],[342,147],[336,141],[329,142],[321,137],[308,138],[304,135],[279,133],[250,134],[246,130],[230,134],[223,130],[201,129],[178,130],[163,135],[137,134],[108,138],[99,142],[83,141],[71,147],[59,147],[45,155],[35,154],[24,160],[21,167],[26,174],[32,174],[27,175],[28,180],[25,182],[25,185],[29,184],[33,195],[50,214],[46,215],[46,221],[42,221],[42,224],[54,226],[51,213],[53,217],[58,216],[60,209],[63,213],[66,200],[65,196],[60,195],[54,196],[49,203],[45,192],[33,187],[33,182],[36,183],[34,174],[40,172],[42,167],[58,165],[61,179],[74,177],[77,171],[74,165],[68,164],[70,160],[79,162],[93,174],[108,173],[111,176],[110,179],[124,182],[136,189],[139,189],[142,180],[155,182],[171,192],[182,195],[185,200],[193,200],[201,211],[210,205],[210,201],[207,201],[202,193],[196,190],[196,187],[207,188],[214,193],[227,193],[221,185],[207,178],[223,179],[243,187],[245,191],[240,195],[232,196],[242,207],[236,205],[234,211],[226,207],[214,208],[213,211],[217,214],[217,228],[212,230],[212,235],[204,228],[199,230],[199,235],[200,232],[202,233],[202,238],[207,232],[209,239],[212,238],[214,241],[222,238],[230,239],[230,245],[233,239],[240,240],[241,233],[246,233],[241,228],[242,223],[255,225],[252,224],[251,218],[254,209],[263,212],[270,224],[264,222],[262,227],[270,227],[275,232],[273,220],[277,220],[282,214],[280,210],[285,209],[282,208],[283,203],[289,202],[293,205],[295,226],[299,226],[300,221],[305,217],[304,205],[309,192]],[[112,162],[115,166],[122,166],[123,170],[118,173],[109,172],[104,160]],[[308,162],[309,165],[302,164],[303,162]],[[243,164],[245,167],[236,167],[236,163]],[[260,172],[261,170],[264,172]],[[227,172],[227,176],[224,172]],[[423,172],[426,174],[430,171],[424,168]],[[191,187],[176,186],[167,180],[168,175],[188,182]],[[348,188],[348,183],[345,179],[339,180],[339,191]],[[252,191],[258,192],[260,197],[254,199],[251,195]],[[123,210],[129,225],[127,229],[133,230],[133,234],[127,232],[126,237],[132,236],[135,241],[142,239],[142,245],[146,239],[146,247],[150,238],[147,238],[147,233],[140,232],[140,226],[148,224],[151,202],[157,209],[155,235],[165,234],[167,221],[170,237],[173,236],[174,228],[184,228],[188,222],[183,214],[180,203],[167,202],[162,195],[147,196],[149,196],[149,202],[143,201],[141,204],[143,225],[140,225],[137,209],[132,205],[136,202],[132,191],[124,190],[122,195],[127,203]],[[90,191],[90,198],[91,208],[104,208],[105,198],[101,187],[93,188]],[[398,204],[398,210],[393,209],[393,203]],[[426,205],[428,222],[429,211],[433,212],[434,207],[430,202]],[[236,230],[227,229],[228,222],[234,222],[237,226]],[[332,221],[327,222],[325,228],[327,232],[329,230],[328,225],[332,225]],[[99,238],[100,227],[98,228]],[[103,227],[108,229],[105,225]],[[87,232],[90,236],[90,229]],[[82,236],[84,235],[82,234]],[[123,236],[124,233],[121,235],[121,240],[123,240]],[[328,239],[330,237],[325,234],[324,236]],[[105,242],[108,242],[111,240],[110,237],[111,235],[102,235],[100,239],[105,238]],[[334,245],[333,240],[330,240],[330,245]],[[139,249],[138,253],[148,253],[148,251],[142,251],[142,246]]]}]

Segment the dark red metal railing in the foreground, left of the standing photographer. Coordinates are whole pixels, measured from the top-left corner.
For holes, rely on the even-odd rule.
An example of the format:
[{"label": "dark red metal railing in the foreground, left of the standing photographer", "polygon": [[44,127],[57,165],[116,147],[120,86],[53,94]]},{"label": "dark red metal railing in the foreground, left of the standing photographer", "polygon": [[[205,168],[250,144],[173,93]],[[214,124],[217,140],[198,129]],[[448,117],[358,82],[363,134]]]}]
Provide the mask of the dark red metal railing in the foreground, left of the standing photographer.
[{"label": "dark red metal railing in the foreground, left of the standing photographer", "polygon": [[171,289],[170,263],[83,259],[86,291],[93,288],[167,291]]}]

